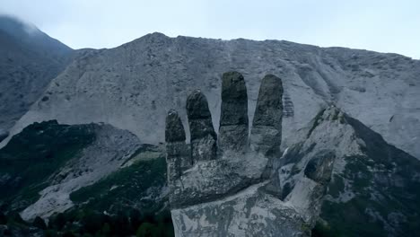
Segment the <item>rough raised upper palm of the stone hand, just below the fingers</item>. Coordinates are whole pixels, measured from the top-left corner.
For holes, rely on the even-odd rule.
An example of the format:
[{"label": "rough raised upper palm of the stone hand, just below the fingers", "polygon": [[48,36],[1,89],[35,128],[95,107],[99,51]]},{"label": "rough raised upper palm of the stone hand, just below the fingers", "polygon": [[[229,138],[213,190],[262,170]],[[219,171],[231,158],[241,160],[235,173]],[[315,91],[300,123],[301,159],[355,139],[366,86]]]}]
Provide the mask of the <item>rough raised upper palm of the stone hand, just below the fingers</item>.
[{"label": "rough raised upper palm of the stone hand, just below the fingers", "polygon": [[267,158],[258,154],[199,162],[173,184],[171,207],[193,206],[224,198],[261,181]]}]

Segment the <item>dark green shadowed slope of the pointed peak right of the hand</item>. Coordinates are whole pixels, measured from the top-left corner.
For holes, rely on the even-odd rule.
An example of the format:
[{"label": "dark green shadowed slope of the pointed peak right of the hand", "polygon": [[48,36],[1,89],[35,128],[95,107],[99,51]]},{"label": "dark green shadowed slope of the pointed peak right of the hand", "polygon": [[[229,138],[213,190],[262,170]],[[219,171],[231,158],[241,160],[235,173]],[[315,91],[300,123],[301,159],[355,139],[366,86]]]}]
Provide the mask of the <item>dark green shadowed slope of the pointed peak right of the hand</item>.
[{"label": "dark green shadowed slope of the pointed peak right of the hand", "polygon": [[346,118],[363,139],[363,155],[346,157],[346,169],[328,185],[328,195],[338,198],[348,191],[346,202],[325,200],[320,217],[324,221],[313,236],[413,236],[420,233],[420,162],[404,153],[369,127]]}]

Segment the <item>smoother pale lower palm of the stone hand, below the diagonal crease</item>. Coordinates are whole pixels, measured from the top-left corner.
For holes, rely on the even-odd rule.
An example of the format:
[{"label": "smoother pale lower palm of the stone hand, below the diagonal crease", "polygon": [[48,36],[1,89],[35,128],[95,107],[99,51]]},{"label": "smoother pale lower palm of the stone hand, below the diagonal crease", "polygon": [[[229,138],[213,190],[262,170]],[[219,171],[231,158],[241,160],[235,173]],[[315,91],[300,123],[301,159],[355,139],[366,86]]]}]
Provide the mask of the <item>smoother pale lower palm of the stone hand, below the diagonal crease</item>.
[{"label": "smoother pale lower palm of the stone hand, below the diagonal crease", "polygon": [[176,236],[309,236],[296,211],[261,191],[262,185],[228,198],[172,210]]}]

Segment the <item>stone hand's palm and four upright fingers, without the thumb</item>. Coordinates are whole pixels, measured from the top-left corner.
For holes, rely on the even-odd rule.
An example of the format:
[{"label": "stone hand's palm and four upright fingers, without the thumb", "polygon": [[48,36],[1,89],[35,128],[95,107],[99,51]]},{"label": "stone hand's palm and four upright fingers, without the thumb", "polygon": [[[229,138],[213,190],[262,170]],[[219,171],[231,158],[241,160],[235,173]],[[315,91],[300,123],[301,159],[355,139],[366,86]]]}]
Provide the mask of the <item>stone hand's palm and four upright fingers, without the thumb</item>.
[{"label": "stone hand's palm and four upright fingers, without the thumb", "polygon": [[[166,118],[167,172],[176,236],[306,236],[311,220],[284,202],[279,167],[283,85],[266,75],[249,133],[248,95],[223,74],[219,136],[206,96],[187,99],[190,144],[176,111]],[[250,134],[250,135],[249,135]]]}]

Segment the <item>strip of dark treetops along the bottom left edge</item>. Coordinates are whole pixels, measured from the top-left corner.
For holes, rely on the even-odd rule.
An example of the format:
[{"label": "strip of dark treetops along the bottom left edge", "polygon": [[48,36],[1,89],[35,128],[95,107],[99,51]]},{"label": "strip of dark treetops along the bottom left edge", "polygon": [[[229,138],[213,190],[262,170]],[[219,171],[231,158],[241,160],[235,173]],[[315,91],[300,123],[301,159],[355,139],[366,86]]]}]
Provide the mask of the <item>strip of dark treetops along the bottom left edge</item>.
[{"label": "strip of dark treetops along the bottom left edge", "polygon": [[32,224],[24,222],[18,214],[4,215],[4,218],[6,219],[4,224],[8,226],[4,236],[13,236],[13,233],[20,233],[22,236],[30,236],[31,233],[44,233],[44,236],[51,237],[174,236],[169,211],[159,215],[142,215],[136,209],[132,209],[127,213],[105,215],[87,209],[74,209],[64,214],[51,216],[48,225],[39,217]]}]

